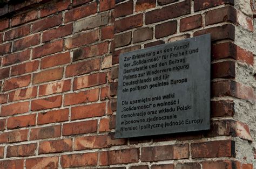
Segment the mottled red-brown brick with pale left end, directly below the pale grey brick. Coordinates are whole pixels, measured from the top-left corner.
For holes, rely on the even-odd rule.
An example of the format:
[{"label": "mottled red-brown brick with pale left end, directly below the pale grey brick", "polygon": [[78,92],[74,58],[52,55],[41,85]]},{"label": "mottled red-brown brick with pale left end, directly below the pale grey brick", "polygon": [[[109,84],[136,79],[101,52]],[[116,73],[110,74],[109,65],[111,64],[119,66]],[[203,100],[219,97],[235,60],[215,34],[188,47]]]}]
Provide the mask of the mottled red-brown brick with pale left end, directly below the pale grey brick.
[{"label": "mottled red-brown brick with pale left end, directly below the pale grey brick", "polygon": [[79,34],[78,36],[65,39],[65,48],[75,48],[91,43],[95,43],[99,39],[99,30]]}]

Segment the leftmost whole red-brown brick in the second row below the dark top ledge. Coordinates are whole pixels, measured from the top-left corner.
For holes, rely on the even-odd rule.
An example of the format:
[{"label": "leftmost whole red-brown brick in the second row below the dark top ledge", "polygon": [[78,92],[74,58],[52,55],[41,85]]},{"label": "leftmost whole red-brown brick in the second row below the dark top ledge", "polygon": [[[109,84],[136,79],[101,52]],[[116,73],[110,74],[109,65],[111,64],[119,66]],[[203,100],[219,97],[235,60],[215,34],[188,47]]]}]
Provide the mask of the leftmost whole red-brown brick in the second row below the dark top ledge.
[{"label": "leftmost whole red-brown brick in the second row below the dark top ledge", "polygon": [[30,25],[18,27],[16,29],[5,32],[4,40],[11,40],[19,37],[24,37],[30,33]]}]

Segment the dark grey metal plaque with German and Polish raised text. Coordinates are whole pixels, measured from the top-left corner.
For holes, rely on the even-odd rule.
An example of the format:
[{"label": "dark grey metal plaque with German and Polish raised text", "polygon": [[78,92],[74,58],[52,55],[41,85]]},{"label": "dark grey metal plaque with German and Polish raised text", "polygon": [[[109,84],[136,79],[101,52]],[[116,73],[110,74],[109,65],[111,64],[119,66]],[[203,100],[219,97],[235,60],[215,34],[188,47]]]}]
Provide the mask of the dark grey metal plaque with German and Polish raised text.
[{"label": "dark grey metal plaque with German and Polish raised text", "polygon": [[210,129],[211,36],[120,55],[116,138]]}]

